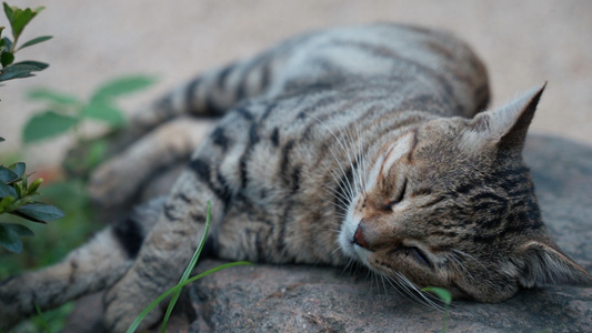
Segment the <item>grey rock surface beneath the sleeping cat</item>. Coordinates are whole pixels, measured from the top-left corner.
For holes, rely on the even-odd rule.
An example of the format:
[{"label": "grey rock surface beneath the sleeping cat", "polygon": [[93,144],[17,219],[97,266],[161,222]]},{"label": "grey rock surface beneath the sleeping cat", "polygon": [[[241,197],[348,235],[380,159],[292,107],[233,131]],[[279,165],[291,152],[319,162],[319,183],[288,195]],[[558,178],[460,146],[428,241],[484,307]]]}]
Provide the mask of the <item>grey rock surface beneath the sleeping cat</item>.
[{"label": "grey rock surface beneath the sleeping cat", "polygon": [[[551,234],[592,271],[592,148],[531,135],[524,155]],[[203,261],[198,271],[220,263]],[[438,332],[445,315],[377,278],[334,268],[232,268],[192,284],[189,299],[197,320],[183,320],[185,307],[169,331]],[[592,332],[592,289],[528,290],[498,304],[453,301],[448,331]]]}]

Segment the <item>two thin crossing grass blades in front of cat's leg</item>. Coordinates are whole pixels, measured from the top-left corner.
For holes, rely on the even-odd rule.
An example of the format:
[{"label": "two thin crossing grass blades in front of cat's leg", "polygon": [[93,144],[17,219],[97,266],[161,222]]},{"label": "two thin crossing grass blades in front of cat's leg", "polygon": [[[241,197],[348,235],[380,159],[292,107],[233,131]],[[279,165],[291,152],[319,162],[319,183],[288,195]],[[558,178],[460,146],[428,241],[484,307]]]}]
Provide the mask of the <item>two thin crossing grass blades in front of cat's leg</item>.
[{"label": "two thin crossing grass blades in front of cat's leg", "polygon": [[126,331],[127,333],[136,332],[136,330],[138,329],[140,323],[150,313],[150,311],[152,311],[152,309],[154,309],[160,302],[162,302],[164,299],[167,299],[169,295],[172,294],[171,300],[169,302],[169,306],[167,307],[167,313],[164,314],[164,319],[162,320],[162,326],[161,326],[161,330],[160,330],[162,333],[164,333],[165,330],[167,330],[167,324],[168,324],[169,317],[170,317],[170,315],[172,313],[174,304],[177,304],[177,301],[179,300],[179,295],[181,294],[181,291],[182,291],[183,286],[185,286],[187,284],[189,284],[191,282],[194,282],[194,281],[197,281],[197,280],[199,280],[199,279],[201,279],[203,276],[210,275],[212,273],[215,273],[215,272],[224,270],[224,269],[229,269],[229,268],[233,268],[233,266],[238,266],[238,265],[252,265],[252,263],[250,263],[248,261],[229,262],[229,263],[219,265],[218,268],[213,268],[213,269],[208,270],[208,271],[205,271],[203,273],[200,273],[200,274],[198,274],[198,275],[195,275],[193,278],[189,278],[189,275],[191,274],[191,272],[195,268],[195,264],[198,263],[198,259],[199,259],[199,256],[201,254],[201,250],[203,249],[203,245],[205,244],[205,238],[208,236],[208,232],[210,230],[210,211],[211,211],[210,202],[208,201],[208,211],[207,211],[207,214],[205,214],[205,230],[203,231],[203,235],[202,235],[201,241],[200,241],[200,243],[198,245],[198,249],[193,253],[193,256],[191,258],[191,261],[189,262],[185,271],[183,272],[183,275],[181,276],[181,280],[179,281],[179,283],[175,286],[173,286],[173,287],[169,289],[168,291],[165,291],[164,293],[162,293],[152,303],[150,303],[150,305],[148,305],[138,315],[138,317],[136,317],[136,320],[131,323],[131,325],[128,329],[128,331]]}]

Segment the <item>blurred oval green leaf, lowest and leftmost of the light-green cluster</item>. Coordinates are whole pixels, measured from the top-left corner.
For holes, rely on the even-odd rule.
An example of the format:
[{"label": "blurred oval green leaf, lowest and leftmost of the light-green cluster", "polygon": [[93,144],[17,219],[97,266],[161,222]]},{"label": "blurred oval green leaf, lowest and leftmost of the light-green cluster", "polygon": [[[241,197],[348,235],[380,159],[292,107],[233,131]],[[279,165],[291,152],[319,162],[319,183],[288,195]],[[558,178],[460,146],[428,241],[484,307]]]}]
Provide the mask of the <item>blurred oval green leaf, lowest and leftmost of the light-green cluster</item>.
[{"label": "blurred oval green leaf, lowest and leftmost of the light-green cluster", "polygon": [[79,122],[78,118],[46,111],[29,119],[22,131],[24,143],[61,134]]}]

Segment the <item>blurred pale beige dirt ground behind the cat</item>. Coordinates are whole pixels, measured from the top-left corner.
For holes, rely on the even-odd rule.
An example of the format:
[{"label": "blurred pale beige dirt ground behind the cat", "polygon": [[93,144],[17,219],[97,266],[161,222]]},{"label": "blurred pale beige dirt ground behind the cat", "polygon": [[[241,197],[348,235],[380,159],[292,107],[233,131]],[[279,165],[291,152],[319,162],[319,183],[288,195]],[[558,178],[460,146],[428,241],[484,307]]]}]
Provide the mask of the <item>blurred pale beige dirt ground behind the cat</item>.
[{"label": "blurred pale beige dirt ground behind the cat", "polygon": [[[33,87],[87,97],[118,75],[157,75],[154,88],[123,104],[133,110],[200,71],[295,33],[374,21],[438,27],[462,37],[489,68],[493,105],[549,81],[533,131],[592,143],[592,1],[8,2],[47,7],[26,29],[23,41],[42,34],[54,39],[17,57],[48,62],[48,70],[0,88],[0,133],[8,140],[2,152],[19,147],[24,121],[42,107],[24,99]],[[3,16],[0,24],[7,26]],[[30,152],[51,162],[66,145],[66,140],[56,140]]]}]

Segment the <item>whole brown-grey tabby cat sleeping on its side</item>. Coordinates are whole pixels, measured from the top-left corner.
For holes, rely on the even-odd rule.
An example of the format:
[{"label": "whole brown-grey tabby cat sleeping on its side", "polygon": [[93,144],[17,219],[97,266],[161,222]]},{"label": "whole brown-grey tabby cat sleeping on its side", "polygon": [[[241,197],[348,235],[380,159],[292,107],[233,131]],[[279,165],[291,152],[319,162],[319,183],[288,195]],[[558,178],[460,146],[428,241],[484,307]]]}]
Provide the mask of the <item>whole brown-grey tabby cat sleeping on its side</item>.
[{"label": "whole brown-grey tabby cat sleeping on its side", "polygon": [[[592,286],[545,231],[521,155],[544,84],[485,111],[488,74],[448,32],[334,28],[207,72],[142,110],[91,191],[124,202],[188,159],[169,195],[61,263],[0,284],[0,326],[107,290],[124,331],[179,280],[203,234],[228,260],[345,266],[501,302],[520,287]],[[208,135],[200,121],[220,118]],[[193,151],[194,147],[198,147]],[[155,323],[157,309],[143,322]]]}]

